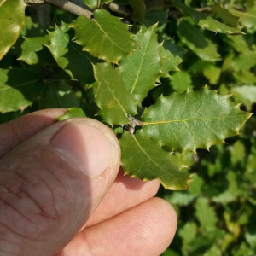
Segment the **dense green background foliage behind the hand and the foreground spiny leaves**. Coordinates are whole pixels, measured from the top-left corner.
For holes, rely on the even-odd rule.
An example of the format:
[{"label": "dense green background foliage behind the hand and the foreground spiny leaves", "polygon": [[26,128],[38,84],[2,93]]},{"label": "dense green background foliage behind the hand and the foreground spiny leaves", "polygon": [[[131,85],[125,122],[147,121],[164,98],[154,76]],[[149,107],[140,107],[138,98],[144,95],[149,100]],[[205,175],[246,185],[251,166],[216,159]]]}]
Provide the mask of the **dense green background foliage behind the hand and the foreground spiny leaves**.
[{"label": "dense green background foliage behind the hand and the foreground spiny leaves", "polygon": [[[91,9],[98,7],[96,0],[84,3]],[[179,64],[180,72],[162,77],[161,85],[150,90],[143,107],[151,105],[161,94],[182,93],[188,88],[198,90],[207,84],[219,94],[232,94],[231,100],[243,102],[241,109],[255,112],[256,1],[185,1],[201,14],[244,32],[236,35],[201,29],[195,20],[184,17],[172,1],[147,0],[146,7],[140,4],[143,1],[114,3],[121,7],[118,11],[108,4],[104,8],[124,17],[128,24],[149,27],[159,22],[159,41],[171,40],[173,44],[166,48],[175,53],[175,62]],[[75,18],[76,15],[49,5],[26,8],[20,37],[0,61],[0,84],[15,89],[5,94],[0,90],[0,123],[43,108],[81,107],[88,116],[94,116],[97,107],[90,67],[85,67],[88,72],[80,72],[83,57],[73,54],[75,48],[69,49],[68,64],[61,58],[61,50],[67,45],[60,39],[63,34],[58,33],[56,26],[67,31],[65,37],[73,38],[73,31],[66,24]],[[1,30],[3,26],[0,17]],[[138,29],[139,25],[132,27],[134,32]],[[51,47],[53,44],[60,44],[59,51]],[[68,69],[77,70],[73,76],[81,79],[71,79]],[[22,102],[20,106],[17,99]],[[160,189],[159,195],[172,203],[179,221],[177,236],[163,255],[256,255],[255,116],[247,121],[239,137],[226,142],[213,146],[210,152],[198,150],[197,154],[179,155],[190,172],[195,173],[188,191]]]}]

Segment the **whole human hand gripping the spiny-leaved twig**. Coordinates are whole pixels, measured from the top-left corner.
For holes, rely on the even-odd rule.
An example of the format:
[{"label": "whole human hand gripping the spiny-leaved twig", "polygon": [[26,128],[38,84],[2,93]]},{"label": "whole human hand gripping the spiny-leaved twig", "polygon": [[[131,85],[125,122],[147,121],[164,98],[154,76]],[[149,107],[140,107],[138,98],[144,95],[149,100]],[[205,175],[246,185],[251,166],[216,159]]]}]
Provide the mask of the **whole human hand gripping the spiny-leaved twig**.
[{"label": "whole human hand gripping the spiny-leaved twig", "polygon": [[159,183],[119,171],[119,143],[107,126],[54,124],[64,112],[0,125],[0,255],[160,255],[177,217],[153,198]]}]

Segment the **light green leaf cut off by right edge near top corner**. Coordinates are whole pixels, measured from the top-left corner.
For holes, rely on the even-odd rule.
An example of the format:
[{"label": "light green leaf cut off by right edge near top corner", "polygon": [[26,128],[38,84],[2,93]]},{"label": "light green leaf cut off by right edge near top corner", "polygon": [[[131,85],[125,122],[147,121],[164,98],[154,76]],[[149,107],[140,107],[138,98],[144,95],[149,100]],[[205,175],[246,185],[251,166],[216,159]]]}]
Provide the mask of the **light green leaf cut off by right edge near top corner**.
[{"label": "light green leaf cut off by right edge near top corner", "polygon": [[256,4],[253,8],[248,8],[247,12],[231,9],[230,13],[239,18],[239,22],[242,26],[252,31],[256,30]]}]

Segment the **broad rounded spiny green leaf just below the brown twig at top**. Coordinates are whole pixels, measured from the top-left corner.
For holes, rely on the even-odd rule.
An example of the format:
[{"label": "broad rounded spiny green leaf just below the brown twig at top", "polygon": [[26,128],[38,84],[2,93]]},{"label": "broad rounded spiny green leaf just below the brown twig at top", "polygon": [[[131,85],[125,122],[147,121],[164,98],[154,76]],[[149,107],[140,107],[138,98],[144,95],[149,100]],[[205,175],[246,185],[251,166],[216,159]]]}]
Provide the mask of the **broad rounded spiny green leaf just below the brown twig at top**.
[{"label": "broad rounded spiny green leaf just below the brown twig at top", "polygon": [[73,21],[72,27],[76,43],[104,61],[118,64],[136,46],[134,35],[128,32],[128,26],[104,9],[96,9],[93,20],[80,16]]}]

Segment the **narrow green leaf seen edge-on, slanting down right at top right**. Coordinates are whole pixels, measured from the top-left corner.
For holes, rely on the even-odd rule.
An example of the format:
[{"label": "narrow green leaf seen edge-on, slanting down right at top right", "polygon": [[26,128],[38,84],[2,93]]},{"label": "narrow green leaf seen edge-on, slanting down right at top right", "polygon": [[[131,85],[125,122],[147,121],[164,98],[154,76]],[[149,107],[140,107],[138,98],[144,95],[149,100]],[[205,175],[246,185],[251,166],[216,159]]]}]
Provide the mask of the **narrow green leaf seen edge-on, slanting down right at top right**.
[{"label": "narrow green leaf seen edge-on, slanting down right at top right", "polygon": [[207,30],[227,34],[243,33],[235,27],[226,26],[223,23],[212,19],[210,16],[204,15],[195,9],[190,8],[179,0],[172,0],[172,2],[182,11],[183,15],[189,15],[197,25]]}]

